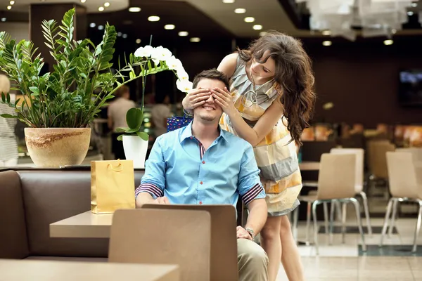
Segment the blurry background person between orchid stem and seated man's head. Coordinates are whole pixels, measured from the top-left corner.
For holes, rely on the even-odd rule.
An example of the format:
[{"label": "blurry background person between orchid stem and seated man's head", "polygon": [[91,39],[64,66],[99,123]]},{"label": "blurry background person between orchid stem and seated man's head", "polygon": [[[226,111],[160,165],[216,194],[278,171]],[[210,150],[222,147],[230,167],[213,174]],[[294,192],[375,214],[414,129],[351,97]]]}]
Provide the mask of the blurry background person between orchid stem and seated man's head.
[{"label": "blurry background person between orchid stem and seated man's head", "polygon": [[151,109],[151,119],[154,124],[155,137],[167,132],[167,118],[172,117],[170,96],[155,96],[155,105]]}]

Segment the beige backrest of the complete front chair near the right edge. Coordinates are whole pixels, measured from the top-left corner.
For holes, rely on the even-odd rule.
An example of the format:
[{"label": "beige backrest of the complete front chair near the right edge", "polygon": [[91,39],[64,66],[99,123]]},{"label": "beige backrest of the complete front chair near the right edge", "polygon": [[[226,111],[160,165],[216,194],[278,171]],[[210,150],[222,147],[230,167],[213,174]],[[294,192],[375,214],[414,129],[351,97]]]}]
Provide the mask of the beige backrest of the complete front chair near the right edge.
[{"label": "beige backrest of the complete front chair near the right edge", "polygon": [[411,152],[387,152],[388,181],[393,197],[418,197],[418,184]]}]

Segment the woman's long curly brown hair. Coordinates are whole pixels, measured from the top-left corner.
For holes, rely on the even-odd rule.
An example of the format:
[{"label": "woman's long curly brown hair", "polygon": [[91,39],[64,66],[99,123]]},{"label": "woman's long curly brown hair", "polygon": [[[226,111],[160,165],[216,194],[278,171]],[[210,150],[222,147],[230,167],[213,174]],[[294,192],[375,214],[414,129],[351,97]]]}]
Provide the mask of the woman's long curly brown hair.
[{"label": "woman's long curly brown hair", "polygon": [[[269,56],[262,58],[265,51],[269,51]],[[312,62],[302,43],[281,32],[269,31],[253,41],[247,50],[238,50],[238,55],[245,63],[252,58],[258,63],[274,59],[274,79],[282,88],[280,101],[284,107],[283,116],[288,121],[287,129],[292,136],[291,141],[302,145],[300,136],[303,129],[309,127],[316,100]]]}]

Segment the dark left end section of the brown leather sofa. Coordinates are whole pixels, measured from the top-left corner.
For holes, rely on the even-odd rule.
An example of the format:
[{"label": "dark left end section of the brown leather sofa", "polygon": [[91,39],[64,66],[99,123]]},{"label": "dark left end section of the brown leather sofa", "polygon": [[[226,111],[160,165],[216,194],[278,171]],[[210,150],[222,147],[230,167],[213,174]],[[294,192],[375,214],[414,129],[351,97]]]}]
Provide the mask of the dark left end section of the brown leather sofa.
[{"label": "dark left end section of the brown leather sofa", "polygon": [[0,259],[24,259],[29,254],[20,178],[0,172]]}]

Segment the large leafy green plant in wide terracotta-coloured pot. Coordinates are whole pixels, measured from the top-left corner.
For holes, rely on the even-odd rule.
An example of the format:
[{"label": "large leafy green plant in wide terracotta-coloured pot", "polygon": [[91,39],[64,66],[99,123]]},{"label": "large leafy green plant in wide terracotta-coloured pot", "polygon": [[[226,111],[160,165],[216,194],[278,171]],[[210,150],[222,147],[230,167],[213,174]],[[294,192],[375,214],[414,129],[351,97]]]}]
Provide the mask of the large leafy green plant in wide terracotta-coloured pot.
[{"label": "large leafy green plant in wide terracotta-coloured pot", "polygon": [[[25,141],[36,166],[82,163],[89,149],[89,124],[100,108],[120,86],[146,75],[146,69],[149,74],[160,71],[157,65],[146,67],[142,58],[130,54],[129,62],[125,60],[122,68],[119,62],[112,74],[115,27],[106,24],[103,39],[95,46],[89,39],[75,41],[74,18],[73,8],[65,13],[60,26],[55,20],[42,22],[45,44],[55,60],[53,72],[42,75],[44,59],[34,44],[25,40],[17,44],[9,34],[0,32],[0,70],[23,95],[13,103],[9,93],[1,93],[0,102],[15,111],[15,115],[1,117],[16,118],[29,126]],[[134,67],[141,68],[139,74]]]}]

